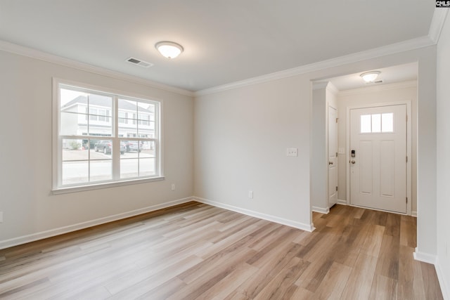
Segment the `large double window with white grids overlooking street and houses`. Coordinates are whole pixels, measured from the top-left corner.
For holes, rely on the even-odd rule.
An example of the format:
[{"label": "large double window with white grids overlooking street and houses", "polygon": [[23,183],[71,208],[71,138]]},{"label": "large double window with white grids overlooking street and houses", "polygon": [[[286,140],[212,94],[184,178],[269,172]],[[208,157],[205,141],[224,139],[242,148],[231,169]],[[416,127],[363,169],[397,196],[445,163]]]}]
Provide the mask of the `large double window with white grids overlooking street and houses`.
[{"label": "large double window with white grids overlooking street and houses", "polygon": [[53,190],[162,178],[160,102],[55,80]]}]

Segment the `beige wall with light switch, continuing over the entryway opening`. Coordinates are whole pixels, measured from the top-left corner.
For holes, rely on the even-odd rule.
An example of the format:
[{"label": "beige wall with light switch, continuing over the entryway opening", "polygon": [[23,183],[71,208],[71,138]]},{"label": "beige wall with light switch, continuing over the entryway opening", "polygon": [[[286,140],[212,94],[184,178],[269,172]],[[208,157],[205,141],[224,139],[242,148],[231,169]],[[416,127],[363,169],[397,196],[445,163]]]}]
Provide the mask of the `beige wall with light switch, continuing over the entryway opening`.
[{"label": "beige wall with light switch, continuing over the entryway opening", "polygon": [[[195,98],[195,196],[311,223],[311,81],[418,62],[418,253],[435,255],[435,46],[207,93]],[[285,148],[299,148],[286,157]],[[311,164],[311,168],[314,165]],[[249,200],[248,190],[255,198]],[[420,191],[420,192],[419,192]]]}]

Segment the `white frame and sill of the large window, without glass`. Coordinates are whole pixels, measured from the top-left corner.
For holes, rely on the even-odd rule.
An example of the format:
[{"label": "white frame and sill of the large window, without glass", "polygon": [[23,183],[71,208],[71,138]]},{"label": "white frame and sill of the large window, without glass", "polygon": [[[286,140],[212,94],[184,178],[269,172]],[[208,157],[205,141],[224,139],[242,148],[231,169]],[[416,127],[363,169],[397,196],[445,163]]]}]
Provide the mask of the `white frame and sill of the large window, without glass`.
[{"label": "white frame and sill of the large window, without glass", "polygon": [[[108,94],[108,96],[113,96],[113,107],[111,110],[111,118],[113,124],[112,136],[104,137],[104,139],[111,140],[113,142],[113,149],[120,148],[120,141],[141,141],[141,138],[126,138],[120,137],[118,134],[119,127],[119,115],[118,115],[118,98],[125,100],[143,100],[149,103],[155,104],[155,138],[146,138],[147,141],[155,142],[155,176],[146,177],[136,177],[136,178],[125,178],[120,179],[120,151],[113,151],[112,164],[113,164],[113,178],[110,181],[99,181],[91,183],[79,183],[74,185],[63,185],[62,184],[62,141],[67,138],[93,138],[94,136],[62,136],[59,134],[60,130],[60,85],[70,86],[74,89],[86,90],[100,94]],[[148,98],[148,96],[142,96],[135,93],[117,91],[114,89],[108,89],[101,86],[94,86],[91,84],[85,84],[76,81],[69,81],[65,79],[53,78],[53,118],[52,118],[52,157],[53,157],[53,186],[52,193],[74,193],[83,190],[95,190],[99,188],[110,188],[120,185],[129,185],[136,183],[145,183],[151,181],[162,181],[165,179],[163,173],[163,157],[162,157],[162,100],[155,98]],[[89,115],[88,115],[89,119]]]}]

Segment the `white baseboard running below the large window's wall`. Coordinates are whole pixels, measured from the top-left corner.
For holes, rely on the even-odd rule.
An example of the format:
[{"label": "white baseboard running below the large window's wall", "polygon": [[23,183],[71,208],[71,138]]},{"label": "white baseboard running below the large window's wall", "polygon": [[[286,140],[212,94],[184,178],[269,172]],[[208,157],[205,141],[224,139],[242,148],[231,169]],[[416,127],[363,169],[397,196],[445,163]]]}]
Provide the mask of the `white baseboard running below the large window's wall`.
[{"label": "white baseboard running below the large window's wall", "polygon": [[193,197],[187,197],[184,199],[179,199],[179,200],[174,200],[174,201],[170,201],[170,202],[165,202],[162,204],[155,204],[152,205],[150,207],[143,207],[141,209],[135,209],[133,211],[127,211],[121,214],[115,214],[113,216],[105,216],[103,218],[100,219],[95,219],[95,220],[91,220],[91,221],[86,221],[86,222],[82,222],[82,223],[77,223],[74,225],[70,225],[70,226],[64,226],[64,227],[60,227],[60,228],[55,228],[55,229],[51,229],[51,230],[46,230],[46,231],[42,231],[40,233],[33,233],[31,235],[23,235],[21,237],[14,237],[10,240],[2,240],[0,241],[0,249],[5,249],[8,247],[13,247],[13,246],[17,246],[18,244],[25,244],[27,242],[34,242],[36,240],[42,240],[45,239],[47,237],[54,237],[56,235],[63,235],[64,233],[70,233],[72,231],[76,231],[76,230],[80,230],[80,229],[84,229],[84,228],[89,228],[92,226],[97,226],[97,225],[101,225],[104,223],[108,223],[108,222],[112,222],[112,221],[117,221],[120,219],[125,219],[125,218],[129,218],[130,216],[137,216],[139,214],[146,214],[150,211],[155,211],[158,209],[164,209],[167,207],[173,207],[174,205],[177,204],[183,204],[189,201],[193,201]]}]

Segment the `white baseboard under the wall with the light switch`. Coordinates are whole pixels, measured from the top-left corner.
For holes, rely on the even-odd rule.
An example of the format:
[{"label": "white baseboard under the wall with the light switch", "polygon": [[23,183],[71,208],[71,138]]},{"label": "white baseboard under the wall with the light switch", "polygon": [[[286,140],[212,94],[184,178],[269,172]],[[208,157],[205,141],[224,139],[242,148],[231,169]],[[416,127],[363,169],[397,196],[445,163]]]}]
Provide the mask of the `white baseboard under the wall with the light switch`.
[{"label": "white baseboard under the wall with the light switch", "polygon": [[195,197],[194,196],[193,200],[198,201],[198,202],[202,202],[202,203],[205,203],[205,204],[210,204],[213,207],[220,207],[222,209],[228,209],[228,210],[231,210],[231,211],[236,211],[236,212],[238,212],[240,214],[245,214],[247,216],[254,216],[255,218],[258,218],[258,219],[264,219],[264,220],[267,220],[267,221],[280,223],[280,224],[283,224],[283,225],[286,225],[286,226],[290,226],[290,227],[293,227],[293,228],[297,228],[297,229],[301,229],[301,230],[305,230],[305,231],[309,231],[309,232],[312,232],[315,229],[312,224],[305,224],[305,223],[300,223],[300,222],[297,222],[297,221],[283,219],[283,218],[280,218],[278,216],[272,216],[272,215],[269,215],[269,214],[262,214],[262,213],[260,213],[258,211],[252,211],[250,209],[243,209],[243,208],[240,208],[240,207],[235,207],[233,205],[224,204],[224,203],[220,203],[220,202],[215,202],[215,201],[207,200],[207,199],[200,198],[200,197]]}]

